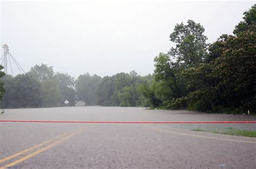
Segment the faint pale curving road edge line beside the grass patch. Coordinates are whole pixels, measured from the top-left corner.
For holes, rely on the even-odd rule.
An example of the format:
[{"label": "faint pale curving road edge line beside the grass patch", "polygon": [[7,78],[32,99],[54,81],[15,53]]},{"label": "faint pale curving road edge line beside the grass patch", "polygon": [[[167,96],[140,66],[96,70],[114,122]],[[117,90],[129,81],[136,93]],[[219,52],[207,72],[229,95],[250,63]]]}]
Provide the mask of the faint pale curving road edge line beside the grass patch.
[{"label": "faint pale curving road edge line beside the grass patch", "polygon": [[235,140],[235,139],[228,139],[228,138],[217,138],[217,137],[207,137],[207,136],[199,136],[199,135],[191,135],[191,134],[186,134],[186,133],[181,133],[181,132],[175,132],[175,131],[169,131],[169,130],[163,130],[163,129],[159,129],[159,128],[153,128],[154,130],[159,130],[159,131],[163,131],[163,132],[169,132],[169,133],[173,133],[176,135],[181,135],[181,136],[192,136],[192,137],[200,137],[200,138],[208,138],[208,139],[217,139],[217,140],[226,140],[226,141],[232,141],[232,142],[243,142],[243,143],[254,143],[256,144],[256,142],[251,142],[251,141],[246,141],[246,140]]}]

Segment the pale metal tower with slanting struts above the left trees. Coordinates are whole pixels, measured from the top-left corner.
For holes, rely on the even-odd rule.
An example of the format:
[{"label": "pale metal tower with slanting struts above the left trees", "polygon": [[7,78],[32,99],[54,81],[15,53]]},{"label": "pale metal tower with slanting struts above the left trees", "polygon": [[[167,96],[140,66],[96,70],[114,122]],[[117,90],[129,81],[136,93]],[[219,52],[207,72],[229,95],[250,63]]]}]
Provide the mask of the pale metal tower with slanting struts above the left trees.
[{"label": "pale metal tower with slanting struts above the left trees", "polygon": [[11,65],[11,60],[12,60],[14,62],[14,64],[16,65],[16,67],[18,68],[19,72],[25,74],[25,71],[23,70],[23,68],[18,64],[18,62],[15,60],[15,58],[9,52],[8,44],[3,44],[2,48],[4,48],[4,54],[2,55],[2,57],[0,59],[0,62],[1,62],[1,65],[3,65],[3,62],[4,62],[4,65],[3,65],[4,66],[4,73],[8,74],[8,62],[9,62],[12,76],[14,76],[14,72],[12,71],[12,65]]}]

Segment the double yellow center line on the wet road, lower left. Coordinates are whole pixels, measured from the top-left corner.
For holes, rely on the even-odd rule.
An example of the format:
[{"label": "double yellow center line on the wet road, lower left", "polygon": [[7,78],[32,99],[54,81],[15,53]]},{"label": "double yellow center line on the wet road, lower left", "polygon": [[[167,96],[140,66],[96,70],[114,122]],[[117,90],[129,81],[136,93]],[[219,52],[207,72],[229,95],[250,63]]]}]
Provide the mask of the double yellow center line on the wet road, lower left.
[{"label": "double yellow center line on the wet road, lower left", "polygon": [[45,146],[45,147],[43,147],[42,149],[39,149],[39,150],[37,150],[37,151],[35,151],[35,152],[29,154],[28,156],[22,157],[22,158],[20,158],[20,159],[14,161],[14,162],[12,162],[12,163],[9,163],[9,164],[5,165],[4,167],[1,167],[0,169],[6,168],[6,167],[14,166],[14,165],[16,165],[16,164],[18,164],[18,163],[21,163],[21,162],[24,161],[24,160],[27,160],[27,159],[29,159],[29,158],[31,158],[31,157],[34,157],[34,156],[36,156],[37,154],[39,154],[39,153],[41,153],[41,152],[43,152],[43,151],[45,151],[45,150],[47,150],[47,149],[50,149],[51,147],[53,147],[53,146],[55,146],[55,145],[57,145],[57,144],[62,143],[64,140],[69,139],[70,137],[76,135],[78,132],[80,132],[80,131],[73,132],[73,133],[71,133],[70,135],[63,137],[62,139],[57,140],[56,142],[53,142],[52,144],[50,144],[50,145],[48,145],[48,146]]}]

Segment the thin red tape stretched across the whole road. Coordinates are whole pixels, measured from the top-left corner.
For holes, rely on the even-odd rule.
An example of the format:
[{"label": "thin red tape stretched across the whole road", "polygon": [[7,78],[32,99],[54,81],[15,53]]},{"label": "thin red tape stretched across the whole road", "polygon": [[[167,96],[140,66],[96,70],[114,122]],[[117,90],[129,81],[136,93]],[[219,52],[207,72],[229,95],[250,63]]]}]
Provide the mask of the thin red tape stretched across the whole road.
[{"label": "thin red tape stretched across the whole road", "polygon": [[144,124],[223,124],[223,123],[256,123],[256,121],[234,121],[234,122],[120,122],[120,121],[16,121],[0,120],[0,122],[23,122],[23,123],[144,123]]}]

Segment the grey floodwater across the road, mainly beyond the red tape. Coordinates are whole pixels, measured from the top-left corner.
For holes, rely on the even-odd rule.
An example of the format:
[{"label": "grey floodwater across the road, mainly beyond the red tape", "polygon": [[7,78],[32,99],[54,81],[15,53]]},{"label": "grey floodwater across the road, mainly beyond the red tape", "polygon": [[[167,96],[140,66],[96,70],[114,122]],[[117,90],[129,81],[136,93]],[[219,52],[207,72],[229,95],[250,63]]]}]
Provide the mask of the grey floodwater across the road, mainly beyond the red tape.
[{"label": "grey floodwater across the road, mainly beyond the red tape", "polygon": [[[23,121],[119,121],[119,122],[204,122],[204,121],[256,121],[255,115],[206,114],[187,110],[148,110],[133,107],[60,107],[6,109],[2,120]],[[171,127],[235,128],[256,130],[256,124],[167,124]]]}]

